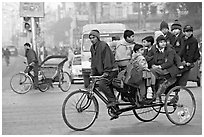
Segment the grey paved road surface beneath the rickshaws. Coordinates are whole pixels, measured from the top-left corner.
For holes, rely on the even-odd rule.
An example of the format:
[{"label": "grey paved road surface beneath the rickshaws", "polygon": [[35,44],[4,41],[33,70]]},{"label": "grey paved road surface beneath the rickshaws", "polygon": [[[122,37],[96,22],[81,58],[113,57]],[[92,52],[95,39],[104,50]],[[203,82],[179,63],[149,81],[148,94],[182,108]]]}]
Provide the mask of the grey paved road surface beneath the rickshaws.
[{"label": "grey paved road surface beneath the rickshaws", "polygon": [[[160,114],[154,121],[140,122],[134,115],[121,116],[110,121],[105,105],[99,100],[100,113],[95,123],[87,130],[73,131],[64,123],[61,109],[69,92],[83,88],[73,84],[70,91],[62,92],[57,86],[42,93],[31,90],[27,94],[14,93],[10,77],[24,69],[24,58],[11,58],[7,67],[2,60],[2,134],[3,135],[201,135],[202,90],[196,83],[188,82],[194,93],[197,110],[192,121],[184,126],[172,124],[166,115]],[[129,112],[132,114],[132,112]]]}]

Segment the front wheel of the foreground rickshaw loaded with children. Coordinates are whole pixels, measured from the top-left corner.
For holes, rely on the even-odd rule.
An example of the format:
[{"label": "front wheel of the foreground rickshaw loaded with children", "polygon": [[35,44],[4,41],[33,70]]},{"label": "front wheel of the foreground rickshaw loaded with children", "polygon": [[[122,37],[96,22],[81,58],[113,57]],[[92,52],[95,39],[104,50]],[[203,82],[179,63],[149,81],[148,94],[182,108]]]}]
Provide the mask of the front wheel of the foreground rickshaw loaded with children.
[{"label": "front wheel of the foreground rickshaw loaded with children", "polygon": [[62,106],[64,122],[76,131],[89,128],[95,122],[98,113],[98,101],[90,93],[83,90],[70,93]]}]

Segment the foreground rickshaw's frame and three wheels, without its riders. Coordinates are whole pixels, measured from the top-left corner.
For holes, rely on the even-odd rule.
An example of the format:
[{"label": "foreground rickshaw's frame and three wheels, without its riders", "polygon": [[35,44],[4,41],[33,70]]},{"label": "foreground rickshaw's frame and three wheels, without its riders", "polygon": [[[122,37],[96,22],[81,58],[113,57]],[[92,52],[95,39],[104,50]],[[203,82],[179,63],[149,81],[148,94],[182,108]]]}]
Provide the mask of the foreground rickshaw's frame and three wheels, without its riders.
[{"label": "foreground rickshaw's frame and three wheels, without its riders", "polygon": [[[98,81],[101,77],[93,76],[92,84],[89,90],[78,89],[71,92],[64,100],[62,105],[62,117],[65,124],[76,131],[83,131],[93,125],[99,114],[99,104],[96,96],[98,96],[104,104],[108,104],[108,100],[100,93],[98,89]],[[149,104],[138,105],[139,88],[126,86],[127,98],[129,102],[119,102],[120,107],[116,110],[114,107],[108,108],[110,116],[122,115],[124,112],[133,111],[137,119],[143,122],[154,120],[159,113],[166,114],[167,118],[176,125],[185,125],[189,123],[196,110],[196,102],[192,92],[186,87],[175,86],[171,88],[167,94],[161,94],[156,101]],[[117,91],[117,89],[116,89]],[[120,92],[117,94],[119,100]],[[162,111],[164,107],[164,111]]]}]

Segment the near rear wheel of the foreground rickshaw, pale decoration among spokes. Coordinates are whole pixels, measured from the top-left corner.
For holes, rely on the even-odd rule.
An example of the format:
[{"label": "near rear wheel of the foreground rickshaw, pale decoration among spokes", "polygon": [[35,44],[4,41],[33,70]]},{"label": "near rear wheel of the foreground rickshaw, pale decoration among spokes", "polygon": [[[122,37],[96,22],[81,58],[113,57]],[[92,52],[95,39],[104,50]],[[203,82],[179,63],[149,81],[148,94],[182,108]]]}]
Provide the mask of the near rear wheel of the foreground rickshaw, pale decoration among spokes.
[{"label": "near rear wheel of the foreground rickshaw, pale decoration among spokes", "polygon": [[193,93],[186,87],[172,88],[166,95],[164,110],[173,124],[187,124],[192,120],[196,110]]}]

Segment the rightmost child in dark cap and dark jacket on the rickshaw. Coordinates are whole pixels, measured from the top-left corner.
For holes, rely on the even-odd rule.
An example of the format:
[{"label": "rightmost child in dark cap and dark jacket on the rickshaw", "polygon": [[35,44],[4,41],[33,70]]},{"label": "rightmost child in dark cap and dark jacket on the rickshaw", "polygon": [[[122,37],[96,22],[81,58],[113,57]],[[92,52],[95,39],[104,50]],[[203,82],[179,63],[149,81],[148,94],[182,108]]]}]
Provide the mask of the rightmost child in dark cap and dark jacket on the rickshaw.
[{"label": "rightmost child in dark cap and dark jacket on the rickshaw", "polygon": [[180,86],[186,86],[190,69],[194,67],[194,63],[200,58],[198,41],[193,36],[193,27],[186,25],[183,28],[185,35],[184,50],[181,53],[181,60],[185,64],[187,71],[182,73],[182,77],[179,79]]}]

